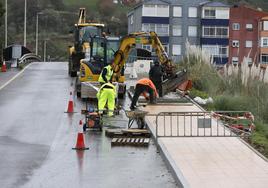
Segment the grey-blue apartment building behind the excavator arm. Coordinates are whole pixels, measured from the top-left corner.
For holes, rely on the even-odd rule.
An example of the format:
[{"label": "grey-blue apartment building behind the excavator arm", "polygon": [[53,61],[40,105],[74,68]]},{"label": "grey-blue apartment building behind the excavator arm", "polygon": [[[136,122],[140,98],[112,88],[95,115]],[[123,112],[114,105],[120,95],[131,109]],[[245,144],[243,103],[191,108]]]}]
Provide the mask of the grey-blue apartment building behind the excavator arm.
[{"label": "grey-blue apartment building behind the excavator arm", "polygon": [[[128,13],[128,33],[155,31],[169,56],[182,59],[186,41],[200,45],[201,4],[204,0],[145,0]],[[142,46],[152,50],[151,46]]]}]

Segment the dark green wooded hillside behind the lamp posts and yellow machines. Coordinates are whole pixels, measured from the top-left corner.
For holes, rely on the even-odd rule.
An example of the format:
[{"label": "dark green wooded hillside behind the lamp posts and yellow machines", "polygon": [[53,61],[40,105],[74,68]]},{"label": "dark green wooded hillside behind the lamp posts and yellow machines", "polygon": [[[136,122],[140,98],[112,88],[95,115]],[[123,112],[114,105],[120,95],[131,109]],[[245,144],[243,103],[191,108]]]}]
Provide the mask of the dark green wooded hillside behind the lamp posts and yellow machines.
[{"label": "dark green wooded hillside behind the lamp posts and yellow machines", "polygon": [[[73,42],[69,32],[78,21],[80,7],[86,8],[87,20],[106,24],[112,35],[127,33],[129,7],[114,4],[112,0],[27,0],[27,48],[35,52],[36,15],[39,13],[38,54],[43,54],[46,41],[47,54],[52,60],[67,60],[67,48]],[[4,16],[1,23],[0,42],[3,48]],[[8,45],[23,44],[23,32],[24,0],[8,1]]]}]

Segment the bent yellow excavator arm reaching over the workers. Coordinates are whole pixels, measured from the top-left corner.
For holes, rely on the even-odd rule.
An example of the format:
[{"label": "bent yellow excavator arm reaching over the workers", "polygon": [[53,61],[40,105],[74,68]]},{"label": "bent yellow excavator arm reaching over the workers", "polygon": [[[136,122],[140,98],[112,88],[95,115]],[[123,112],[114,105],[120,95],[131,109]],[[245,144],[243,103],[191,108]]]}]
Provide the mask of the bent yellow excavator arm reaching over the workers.
[{"label": "bent yellow excavator arm reaching over the workers", "polygon": [[128,54],[132,48],[136,47],[136,44],[152,45],[152,48],[155,49],[158,60],[163,66],[167,77],[174,74],[175,66],[168,58],[168,55],[157,34],[155,32],[137,32],[131,33],[121,40],[120,47],[114,55],[113,62],[113,70],[116,77],[120,77],[121,70],[126,63]]}]

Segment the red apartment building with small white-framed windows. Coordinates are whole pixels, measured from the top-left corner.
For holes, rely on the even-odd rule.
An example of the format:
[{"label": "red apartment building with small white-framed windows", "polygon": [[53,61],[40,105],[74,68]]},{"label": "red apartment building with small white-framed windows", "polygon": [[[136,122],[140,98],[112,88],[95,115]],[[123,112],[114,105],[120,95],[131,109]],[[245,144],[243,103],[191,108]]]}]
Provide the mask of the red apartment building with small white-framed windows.
[{"label": "red apartment building with small white-framed windows", "polygon": [[265,32],[259,31],[259,24],[264,16],[268,14],[245,5],[230,8],[229,63],[259,63],[259,37],[263,35],[265,38]]}]

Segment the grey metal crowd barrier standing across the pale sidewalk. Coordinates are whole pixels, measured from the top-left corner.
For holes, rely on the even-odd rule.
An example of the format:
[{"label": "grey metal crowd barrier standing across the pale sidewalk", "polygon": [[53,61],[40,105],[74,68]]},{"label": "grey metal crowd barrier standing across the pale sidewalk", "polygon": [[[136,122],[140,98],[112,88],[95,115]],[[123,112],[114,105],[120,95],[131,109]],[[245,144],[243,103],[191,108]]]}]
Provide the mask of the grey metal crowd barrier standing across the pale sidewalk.
[{"label": "grey metal crowd barrier standing across the pale sidewalk", "polygon": [[160,112],[156,116],[156,140],[160,137],[249,136],[253,121],[254,116],[248,111]]}]

